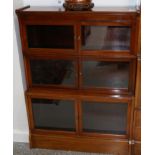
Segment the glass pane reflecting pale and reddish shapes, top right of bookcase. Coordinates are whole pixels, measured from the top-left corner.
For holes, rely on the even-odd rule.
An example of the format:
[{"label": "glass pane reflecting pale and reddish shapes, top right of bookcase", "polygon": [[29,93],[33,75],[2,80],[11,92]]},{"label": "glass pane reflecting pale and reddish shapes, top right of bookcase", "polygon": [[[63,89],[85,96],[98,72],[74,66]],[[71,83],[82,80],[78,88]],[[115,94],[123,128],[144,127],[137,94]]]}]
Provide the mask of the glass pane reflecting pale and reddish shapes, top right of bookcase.
[{"label": "glass pane reflecting pale and reddish shapes, top right of bookcase", "polygon": [[130,27],[82,26],[82,50],[129,50]]}]

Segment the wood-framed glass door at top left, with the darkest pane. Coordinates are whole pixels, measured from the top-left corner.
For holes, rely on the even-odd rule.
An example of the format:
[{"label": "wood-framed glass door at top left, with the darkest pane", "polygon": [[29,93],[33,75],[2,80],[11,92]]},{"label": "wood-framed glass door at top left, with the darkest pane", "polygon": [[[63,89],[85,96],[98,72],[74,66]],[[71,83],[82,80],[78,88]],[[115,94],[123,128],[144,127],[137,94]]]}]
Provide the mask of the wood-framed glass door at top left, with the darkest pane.
[{"label": "wood-framed glass door at top left, with the darkest pane", "polygon": [[29,54],[75,54],[76,25],[73,22],[25,21],[24,52]]}]

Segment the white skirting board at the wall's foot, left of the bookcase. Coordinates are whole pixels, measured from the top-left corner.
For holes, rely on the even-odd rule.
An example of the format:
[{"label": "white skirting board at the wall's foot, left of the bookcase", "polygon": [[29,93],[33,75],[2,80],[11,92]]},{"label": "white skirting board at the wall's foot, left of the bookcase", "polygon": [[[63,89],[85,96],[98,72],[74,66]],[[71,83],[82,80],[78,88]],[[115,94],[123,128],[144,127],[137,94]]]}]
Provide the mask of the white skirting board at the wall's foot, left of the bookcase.
[{"label": "white skirting board at the wall's foot, left of the bookcase", "polygon": [[29,143],[29,133],[27,131],[13,130],[13,141]]}]

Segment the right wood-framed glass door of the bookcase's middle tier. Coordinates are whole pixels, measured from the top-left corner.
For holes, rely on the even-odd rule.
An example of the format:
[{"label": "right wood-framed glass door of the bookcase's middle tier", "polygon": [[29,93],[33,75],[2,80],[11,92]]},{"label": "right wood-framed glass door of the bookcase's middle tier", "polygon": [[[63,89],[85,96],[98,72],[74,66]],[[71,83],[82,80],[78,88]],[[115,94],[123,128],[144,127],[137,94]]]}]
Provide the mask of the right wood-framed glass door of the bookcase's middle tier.
[{"label": "right wood-framed glass door of the bookcase's middle tier", "polygon": [[80,87],[85,90],[129,93],[134,89],[134,59],[81,57]]}]

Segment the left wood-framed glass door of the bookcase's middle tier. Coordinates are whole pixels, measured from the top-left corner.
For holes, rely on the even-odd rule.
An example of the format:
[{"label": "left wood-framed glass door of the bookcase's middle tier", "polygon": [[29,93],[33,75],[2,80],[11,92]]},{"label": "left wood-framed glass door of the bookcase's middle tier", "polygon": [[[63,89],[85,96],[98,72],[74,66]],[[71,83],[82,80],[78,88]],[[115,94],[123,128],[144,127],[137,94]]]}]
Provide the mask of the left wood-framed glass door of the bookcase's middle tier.
[{"label": "left wood-framed glass door of the bookcase's middle tier", "polygon": [[77,88],[77,59],[73,57],[26,57],[29,86]]}]

